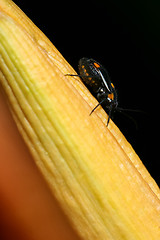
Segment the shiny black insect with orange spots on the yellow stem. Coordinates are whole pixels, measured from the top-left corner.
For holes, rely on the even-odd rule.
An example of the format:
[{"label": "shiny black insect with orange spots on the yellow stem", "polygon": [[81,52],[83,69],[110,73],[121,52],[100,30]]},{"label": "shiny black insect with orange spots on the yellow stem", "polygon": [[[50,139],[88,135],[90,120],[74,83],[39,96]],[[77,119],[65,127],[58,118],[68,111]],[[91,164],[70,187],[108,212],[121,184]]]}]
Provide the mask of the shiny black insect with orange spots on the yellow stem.
[{"label": "shiny black insect with orange spots on the yellow stem", "polygon": [[117,92],[110,80],[107,70],[92,58],[81,58],[78,64],[79,75],[66,74],[67,76],[79,76],[82,82],[90,90],[92,95],[98,100],[98,104],[92,109],[90,115],[102,105],[105,110],[109,110],[107,126],[110,118],[118,106]]}]

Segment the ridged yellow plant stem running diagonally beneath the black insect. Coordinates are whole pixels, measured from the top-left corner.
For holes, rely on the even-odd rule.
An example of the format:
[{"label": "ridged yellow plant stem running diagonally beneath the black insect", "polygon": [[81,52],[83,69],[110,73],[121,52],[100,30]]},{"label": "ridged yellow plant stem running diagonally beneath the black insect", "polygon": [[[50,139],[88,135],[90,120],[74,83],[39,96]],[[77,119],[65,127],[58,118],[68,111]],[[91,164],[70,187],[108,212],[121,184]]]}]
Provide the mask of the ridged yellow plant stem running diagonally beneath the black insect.
[{"label": "ridged yellow plant stem running diagonally beneath the black insect", "polygon": [[37,166],[83,239],[160,239],[160,191],[45,35],[0,0],[0,81]]}]

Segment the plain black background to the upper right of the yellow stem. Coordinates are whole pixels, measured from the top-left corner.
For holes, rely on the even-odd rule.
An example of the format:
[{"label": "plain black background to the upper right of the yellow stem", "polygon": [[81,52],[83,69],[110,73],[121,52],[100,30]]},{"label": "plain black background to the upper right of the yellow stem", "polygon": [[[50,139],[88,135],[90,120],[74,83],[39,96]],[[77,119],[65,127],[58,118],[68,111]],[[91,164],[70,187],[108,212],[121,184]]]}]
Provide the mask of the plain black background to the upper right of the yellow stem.
[{"label": "plain black background to the upper right of the yellow stem", "polygon": [[114,121],[160,185],[158,135],[160,1],[14,1],[77,70],[81,57],[103,64],[119,106],[140,109]]}]

